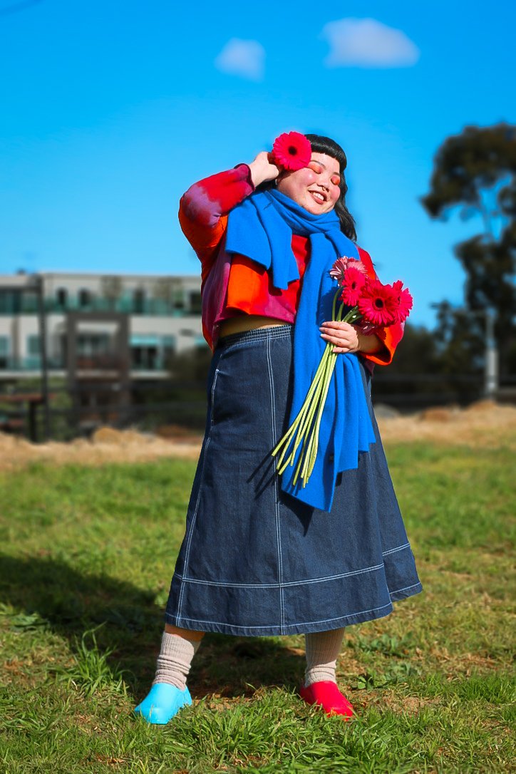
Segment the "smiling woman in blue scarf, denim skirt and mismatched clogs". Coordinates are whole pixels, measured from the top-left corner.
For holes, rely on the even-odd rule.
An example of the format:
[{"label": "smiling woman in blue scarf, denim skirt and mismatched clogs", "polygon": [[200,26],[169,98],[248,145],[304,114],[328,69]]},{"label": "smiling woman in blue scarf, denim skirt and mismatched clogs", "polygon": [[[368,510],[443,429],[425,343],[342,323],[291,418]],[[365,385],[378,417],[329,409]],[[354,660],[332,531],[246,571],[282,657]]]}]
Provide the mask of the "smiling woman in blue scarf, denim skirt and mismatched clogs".
[{"label": "smiling woman in blue scarf, denim skirt and mismatched clogs", "polygon": [[[204,632],[305,634],[300,694],[347,719],[353,709],[335,677],[344,626],[388,615],[392,601],[422,590],[370,395],[373,364],[391,361],[402,326],[364,335],[331,320],[320,288],[342,245],[375,274],[354,245],[346,156],[333,140],[306,136],[308,166],[280,170],[261,152],[196,183],[181,200],[179,220],[202,265],[203,332],[214,357],[156,676],[135,710],[151,723],[191,703],[186,676]],[[319,327],[310,321],[316,309]],[[294,363],[306,358],[314,335],[316,347],[330,342],[343,365],[358,369],[362,419],[374,434],[347,469],[323,449],[323,472],[312,478],[319,485],[319,475],[333,474],[323,499],[312,501],[281,481],[271,451],[306,382],[304,366]]]}]

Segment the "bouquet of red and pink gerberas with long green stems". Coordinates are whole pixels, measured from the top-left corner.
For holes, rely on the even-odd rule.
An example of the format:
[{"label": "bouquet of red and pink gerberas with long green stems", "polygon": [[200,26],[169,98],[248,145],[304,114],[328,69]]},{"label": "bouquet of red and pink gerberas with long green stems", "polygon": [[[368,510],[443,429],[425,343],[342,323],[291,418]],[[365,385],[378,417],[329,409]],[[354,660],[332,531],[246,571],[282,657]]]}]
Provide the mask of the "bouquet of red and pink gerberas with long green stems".
[{"label": "bouquet of red and pink gerberas with long green stems", "polygon": [[[330,269],[330,276],[337,280],[339,286],[333,298],[332,320],[353,324],[364,334],[404,322],[412,309],[412,296],[400,279],[392,285],[383,285],[378,279],[367,276],[364,264],[357,259],[347,256],[337,259]],[[337,300],[341,301],[338,310]],[[344,307],[347,307],[345,313]],[[294,464],[296,451],[302,443],[294,485],[300,476],[303,487],[306,486],[316,462],[320,423],[337,359],[333,346],[330,342],[326,343],[306,399],[289,430],[272,451],[273,457],[281,452],[278,460],[280,474],[289,464]],[[285,456],[289,449],[288,456]]]}]

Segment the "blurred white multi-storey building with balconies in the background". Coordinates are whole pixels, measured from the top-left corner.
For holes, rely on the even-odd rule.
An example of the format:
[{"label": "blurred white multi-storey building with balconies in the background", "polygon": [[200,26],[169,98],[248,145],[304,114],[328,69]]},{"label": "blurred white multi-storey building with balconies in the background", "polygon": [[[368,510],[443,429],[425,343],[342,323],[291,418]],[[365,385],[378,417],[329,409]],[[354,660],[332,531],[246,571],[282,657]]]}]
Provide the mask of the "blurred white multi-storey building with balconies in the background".
[{"label": "blurred white multi-storey building with balconies in the background", "polygon": [[169,354],[207,346],[202,335],[198,276],[0,275],[1,381],[39,375],[38,293],[43,298],[50,375],[64,376],[67,370],[70,313],[80,313],[77,357],[83,361],[116,351],[119,340],[113,313],[127,316],[133,379],[165,378]]}]

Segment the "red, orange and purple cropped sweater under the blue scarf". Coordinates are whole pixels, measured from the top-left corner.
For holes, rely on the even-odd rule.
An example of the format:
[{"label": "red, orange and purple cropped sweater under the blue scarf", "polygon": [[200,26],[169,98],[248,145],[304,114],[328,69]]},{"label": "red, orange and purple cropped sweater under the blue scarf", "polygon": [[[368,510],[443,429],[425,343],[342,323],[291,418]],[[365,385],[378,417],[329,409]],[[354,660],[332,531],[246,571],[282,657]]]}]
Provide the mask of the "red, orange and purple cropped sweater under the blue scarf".
[{"label": "red, orange and purple cropped sweater under the blue scarf", "polygon": [[[220,172],[194,183],[181,198],[179,222],[201,262],[201,293],[210,272],[216,270],[220,243],[227,226],[227,215],[254,190],[249,167],[247,164],[239,164],[234,170]],[[292,252],[299,267],[299,279],[289,283],[285,290],[272,285],[271,276],[262,266],[244,255],[233,255],[227,277],[226,296],[220,304],[221,311],[214,322],[220,323],[221,320],[239,314],[257,314],[293,323],[296,320],[302,276],[309,260],[309,251],[309,238],[292,235]],[[371,256],[360,247],[358,252],[367,273],[375,278]],[[217,330],[210,328],[207,316],[203,315],[203,334],[213,349]],[[361,357],[370,361],[371,365],[388,365],[402,335],[402,325],[392,325],[379,330],[378,336],[383,342],[383,348],[374,354],[361,352]]]}]

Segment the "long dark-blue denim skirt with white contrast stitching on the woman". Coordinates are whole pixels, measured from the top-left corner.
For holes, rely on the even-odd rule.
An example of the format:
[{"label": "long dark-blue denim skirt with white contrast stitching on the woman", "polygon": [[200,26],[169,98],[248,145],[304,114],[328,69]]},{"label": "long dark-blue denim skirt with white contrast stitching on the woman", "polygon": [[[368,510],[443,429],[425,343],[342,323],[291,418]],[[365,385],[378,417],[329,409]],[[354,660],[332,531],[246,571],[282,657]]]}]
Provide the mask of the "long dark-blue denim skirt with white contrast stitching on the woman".
[{"label": "long dark-blue denim skirt with white contrast stitching on the woman", "polygon": [[331,512],[285,494],[271,456],[289,426],[293,326],[220,340],[166,622],[260,636],[388,615],[422,591],[371,406],[376,443],[337,477]]}]

